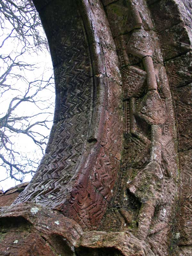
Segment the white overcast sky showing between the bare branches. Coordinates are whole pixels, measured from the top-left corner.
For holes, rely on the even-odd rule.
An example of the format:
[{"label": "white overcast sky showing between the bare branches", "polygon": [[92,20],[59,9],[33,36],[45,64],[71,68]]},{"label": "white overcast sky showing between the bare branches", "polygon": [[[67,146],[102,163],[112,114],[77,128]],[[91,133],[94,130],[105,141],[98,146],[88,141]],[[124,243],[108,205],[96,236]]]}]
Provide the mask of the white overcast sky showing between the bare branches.
[{"label": "white overcast sky showing between the bare branches", "polygon": [[[11,27],[8,21],[5,21],[5,27],[7,28],[4,31],[0,32],[0,44],[2,44],[3,40],[6,37],[6,34],[9,35],[11,31]],[[44,31],[41,29],[40,33],[43,35]],[[44,35],[45,36],[45,35]],[[31,42],[33,44],[33,42]],[[5,42],[3,47],[0,48],[0,54],[1,55],[9,55],[12,53],[12,58],[15,58],[19,52],[21,52],[23,49],[23,45],[19,44],[19,40],[16,40],[15,38],[8,38]],[[3,93],[3,96],[1,97],[0,101],[0,118],[4,116],[7,112],[8,106],[10,101],[20,95],[22,96],[25,91],[28,88],[28,84],[32,81],[37,82],[33,83],[31,87],[31,93],[35,92],[36,90],[36,84],[40,83],[40,81],[49,80],[50,76],[52,76],[52,61],[50,53],[46,48],[44,48],[44,51],[36,49],[36,52],[34,51],[26,51],[24,54],[16,58],[17,61],[22,61],[23,63],[32,64],[32,68],[26,69],[26,68],[18,68],[15,67],[12,69],[12,73],[17,73],[18,75],[21,75],[25,78],[18,79],[17,77],[10,76],[8,79],[6,79],[6,84],[12,84],[12,90],[8,90]],[[5,63],[0,59],[0,76],[1,74],[6,70],[7,66]],[[42,87],[46,85],[47,82],[43,82],[41,85]],[[40,116],[34,116],[32,118],[33,122],[45,120],[47,118],[46,125],[50,129],[52,126],[52,119],[53,119],[53,112],[54,112],[54,100],[55,100],[55,93],[54,93],[54,82],[53,79],[50,81],[50,85],[47,86],[42,91],[38,92],[38,99],[40,100],[38,102],[38,107],[30,102],[22,102],[17,108],[17,115],[19,116],[32,116],[36,115],[40,112],[46,112],[47,114],[41,114]],[[52,113],[52,114],[50,114]],[[28,121],[26,121],[28,122]],[[20,129],[21,124],[16,124],[17,128]],[[26,125],[26,124],[25,124]],[[35,129],[36,132],[43,133],[44,136],[48,136],[50,133],[50,130],[47,130],[44,126],[37,126]],[[32,159],[33,163],[32,165],[36,169],[38,166],[38,162],[41,160],[43,153],[41,148],[39,148],[31,138],[29,138],[27,135],[19,133],[19,134],[10,134],[12,136],[12,141],[14,143],[14,148],[18,151],[17,155],[17,161],[20,161],[20,157],[23,158],[23,163],[25,165],[25,162],[28,158]],[[42,145],[42,147],[45,149],[45,145]],[[2,155],[4,152],[1,150],[0,152]],[[26,158],[26,159],[25,159]],[[26,167],[29,170],[30,167]],[[20,174],[18,174],[19,177]],[[6,168],[3,166],[0,166],[0,180],[4,180],[0,182],[0,189],[3,189],[4,191],[10,187],[14,187],[17,184],[20,184],[19,181],[16,181],[14,179],[11,179],[9,177],[9,171],[6,171]],[[25,176],[23,182],[30,181],[32,178],[32,175],[29,173]]]}]

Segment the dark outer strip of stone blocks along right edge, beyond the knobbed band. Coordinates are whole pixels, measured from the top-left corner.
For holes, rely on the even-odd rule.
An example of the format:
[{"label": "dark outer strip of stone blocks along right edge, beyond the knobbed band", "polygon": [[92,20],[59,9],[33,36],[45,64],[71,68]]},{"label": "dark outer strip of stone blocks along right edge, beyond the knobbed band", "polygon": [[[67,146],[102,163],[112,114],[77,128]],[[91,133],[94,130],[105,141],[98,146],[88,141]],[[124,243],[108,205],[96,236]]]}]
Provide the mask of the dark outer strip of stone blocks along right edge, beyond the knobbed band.
[{"label": "dark outer strip of stone blocks along right edge, beyond the knobbed band", "polygon": [[[166,6],[169,3],[169,6]],[[168,10],[173,10],[171,14]],[[150,5],[172,89],[179,150],[179,202],[172,237],[172,255],[188,256],[191,246],[191,1],[160,1]],[[165,30],[159,20],[164,19]],[[163,31],[162,31],[163,30]],[[162,31],[162,32],[161,32]],[[169,43],[168,43],[169,42]],[[168,155],[168,152],[167,152]],[[190,216],[190,217],[189,217]]]}]

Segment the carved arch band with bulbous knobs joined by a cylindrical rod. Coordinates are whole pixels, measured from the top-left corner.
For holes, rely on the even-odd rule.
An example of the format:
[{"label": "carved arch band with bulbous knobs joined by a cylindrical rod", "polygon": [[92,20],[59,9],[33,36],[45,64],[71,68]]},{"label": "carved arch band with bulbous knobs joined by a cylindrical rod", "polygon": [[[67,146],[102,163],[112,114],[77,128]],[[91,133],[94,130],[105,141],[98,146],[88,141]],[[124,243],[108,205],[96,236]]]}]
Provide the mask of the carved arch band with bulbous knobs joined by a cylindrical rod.
[{"label": "carved arch band with bulbous knobs joined by a cylindrical rod", "polygon": [[[145,1],[130,2],[138,8],[138,13],[142,4],[146,8]],[[108,17],[117,4],[122,3],[117,1],[106,6]],[[143,17],[140,15],[141,20]],[[156,44],[157,35],[150,30],[153,28],[150,16],[147,21],[148,28],[145,21],[140,28],[132,28],[127,34],[117,36],[118,22],[114,28],[109,20],[122,66],[125,128],[120,181],[100,230],[108,230],[110,221],[107,219],[114,216],[114,221],[119,219],[112,225],[114,229],[128,230],[141,240],[150,240],[151,244],[158,243],[158,238],[164,234],[166,249],[158,245],[161,247],[158,255],[164,255],[168,249],[165,244],[176,193],[174,119],[162,54]],[[134,61],[135,57],[139,59]],[[170,152],[173,158],[169,156]]]}]

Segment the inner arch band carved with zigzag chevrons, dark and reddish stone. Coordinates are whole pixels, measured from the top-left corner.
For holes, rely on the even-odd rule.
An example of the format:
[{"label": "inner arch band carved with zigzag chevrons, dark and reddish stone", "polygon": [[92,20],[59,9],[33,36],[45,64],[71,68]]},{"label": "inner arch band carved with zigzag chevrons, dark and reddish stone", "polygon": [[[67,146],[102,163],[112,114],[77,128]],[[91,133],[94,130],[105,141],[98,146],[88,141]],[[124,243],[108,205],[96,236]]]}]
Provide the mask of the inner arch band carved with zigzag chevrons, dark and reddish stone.
[{"label": "inner arch band carved with zigzag chevrons, dark and reddish stone", "polygon": [[40,14],[56,83],[53,135],[33,180],[15,203],[35,201],[86,230],[97,229],[112,196],[123,143],[114,40],[100,1],[57,0]]}]

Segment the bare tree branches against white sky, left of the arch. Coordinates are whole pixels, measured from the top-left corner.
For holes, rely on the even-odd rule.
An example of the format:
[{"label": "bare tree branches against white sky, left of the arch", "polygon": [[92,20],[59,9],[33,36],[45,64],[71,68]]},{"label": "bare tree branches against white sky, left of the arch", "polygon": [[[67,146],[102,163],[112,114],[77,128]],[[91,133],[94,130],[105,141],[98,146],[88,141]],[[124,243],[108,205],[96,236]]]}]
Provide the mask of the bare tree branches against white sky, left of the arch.
[{"label": "bare tree branches against white sky, left of the arch", "polygon": [[[0,27],[0,172],[7,173],[0,182],[22,182],[35,172],[48,140],[54,82],[52,68],[36,62],[48,44],[32,1],[0,0]],[[19,141],[33,151],[26,155]]]}]

